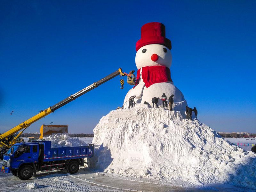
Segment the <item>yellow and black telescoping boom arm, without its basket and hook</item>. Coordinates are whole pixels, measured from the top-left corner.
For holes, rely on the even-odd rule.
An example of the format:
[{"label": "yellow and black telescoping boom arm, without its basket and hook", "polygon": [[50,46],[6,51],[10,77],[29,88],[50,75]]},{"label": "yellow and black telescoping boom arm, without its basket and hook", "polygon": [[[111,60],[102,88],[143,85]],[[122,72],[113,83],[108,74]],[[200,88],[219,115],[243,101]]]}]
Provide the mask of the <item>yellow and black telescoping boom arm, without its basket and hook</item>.
[{"label": "yellow and black telescoping boom arm, without its basket and hook", "polygon": [[[37,115],[31,117],[30,119],[22,122],[21,124],[13,127],[12,129],[8,130],[7,132],[4,132],[3,134],[0,135],[0,145],[4,145],[6,147],[9,147],[9,145],[13,144],[14,141],[21,135],[21,133],[28,127],[30,126],[32,123],[35,123],[36,121],[38,121],[39,119],[49,115],[50,113],[54,112],[55,110],[57,110],[58,108],[61,108],[62,106],[68,104],[69,102],[75,100],[76,98],[80,97],[81,95],[91,91],[92,89],[100,86],[101,84],[107,82],[108,80],[116,77],[116,76],[127,76],[128,74],[127,73],[123,73],[122,72],[122,69],[119,68],[117,71],[111,73],[110,75],[104,77],[103,79],[100,79],[99,81],[97,82],[94,82],[93,84],[89,85],[88,87],[85,87],[84,89],[82,89],[81,91],[79,92],[76,92],[75,94],[73,95],[70,95],[69,97],[67,97],[66,99],[60,101],[59,103],[56,103],[55,105],[47,108],[47,109],[44,109],[43,111],[40,111]],[[23,129],[23,130],[22,130]],[[10,144],[7,144],[5,142],[3,142],[7,137],[13,135],[14,133],[18,132],[22,130],[13,140]]]}]

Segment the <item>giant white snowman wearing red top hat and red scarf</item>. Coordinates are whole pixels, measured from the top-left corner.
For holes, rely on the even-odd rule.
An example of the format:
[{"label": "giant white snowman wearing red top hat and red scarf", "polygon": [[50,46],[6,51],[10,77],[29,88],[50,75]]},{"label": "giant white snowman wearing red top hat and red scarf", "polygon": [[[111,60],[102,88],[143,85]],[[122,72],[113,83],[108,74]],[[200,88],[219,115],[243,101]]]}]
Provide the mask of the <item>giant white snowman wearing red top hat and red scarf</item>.
[{"label": "giant white snowman wearing red top hat and red scarf", "polygon": [[151,105],[152,98],[159,97],[158,105],[162,107],[161,96],[165,93],[167,98],[174,95],[174,110],[185,111],[187,101],[171,79],[171,49],[164,24],[152,22],[141,27],[141,39],[136,43],[136,85],[126,94],[124,108],[128,108],[126,101],[133,95],[136,103],[147,101]]}]

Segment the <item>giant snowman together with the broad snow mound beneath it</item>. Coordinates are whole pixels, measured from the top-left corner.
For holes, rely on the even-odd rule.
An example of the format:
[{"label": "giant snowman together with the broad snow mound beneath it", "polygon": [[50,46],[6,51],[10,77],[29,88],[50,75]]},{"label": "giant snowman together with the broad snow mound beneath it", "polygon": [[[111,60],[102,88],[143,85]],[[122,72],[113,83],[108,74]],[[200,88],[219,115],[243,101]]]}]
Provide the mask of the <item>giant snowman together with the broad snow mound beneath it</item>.
[{"label": "giant snowman together with the broad snow mound beneath it", "polygon": [[[88,167],[109,176],[128,176],[127,180],[147,178],[156,183],[159,179],[179,186],[231,183],[255,191],[256,154],[223,139],[197,119],[185,119],[187,102],[171,79],[170,50],[163,24],[141,28],[136,44],[137,85],[124,102],[133,95],[136,103],[151,102],[164,92],[167,97],[174,94],[174,110],[135,104],[110,111],[93,129],[94,156],[88,158]],[[158,104],[162,106],[161,101]]]}]

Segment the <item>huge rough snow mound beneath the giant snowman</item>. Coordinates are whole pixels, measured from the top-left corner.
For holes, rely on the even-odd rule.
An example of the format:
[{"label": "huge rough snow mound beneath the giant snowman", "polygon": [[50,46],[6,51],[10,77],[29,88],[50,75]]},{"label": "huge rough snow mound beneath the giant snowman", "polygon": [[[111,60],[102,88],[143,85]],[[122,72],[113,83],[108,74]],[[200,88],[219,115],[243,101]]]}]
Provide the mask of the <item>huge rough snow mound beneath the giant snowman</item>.
[{"label": "huge rough snow mound beneath the giant snowman", "polygon": [[[136,106],[136,105],[135,105]],[[256,189],[256,155],[165,108],[111,111],[94,128],[89,166],[117,174]]]}]

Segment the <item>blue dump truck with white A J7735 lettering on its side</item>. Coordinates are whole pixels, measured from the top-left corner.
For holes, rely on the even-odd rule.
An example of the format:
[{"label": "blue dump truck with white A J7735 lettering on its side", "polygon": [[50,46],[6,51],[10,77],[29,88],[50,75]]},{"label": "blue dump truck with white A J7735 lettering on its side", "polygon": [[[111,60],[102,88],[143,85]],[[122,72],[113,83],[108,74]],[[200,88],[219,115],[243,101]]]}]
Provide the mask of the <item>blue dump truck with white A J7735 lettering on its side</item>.
[{"label": "blue dump truck with white A J7735 lettering on its side", "polygon": [[79,147],[51,148],[51,141],[16,143],[4,154],[2,172],[28,180],[37,171],[64,170],[74,174],[84,158],[93,157],[94,144]]}]

